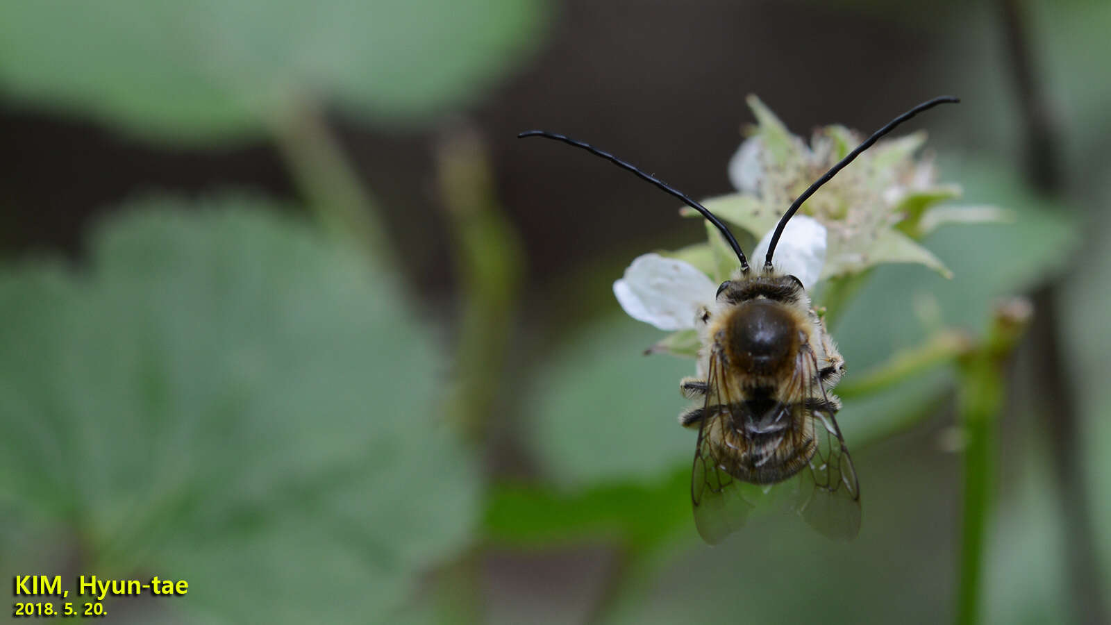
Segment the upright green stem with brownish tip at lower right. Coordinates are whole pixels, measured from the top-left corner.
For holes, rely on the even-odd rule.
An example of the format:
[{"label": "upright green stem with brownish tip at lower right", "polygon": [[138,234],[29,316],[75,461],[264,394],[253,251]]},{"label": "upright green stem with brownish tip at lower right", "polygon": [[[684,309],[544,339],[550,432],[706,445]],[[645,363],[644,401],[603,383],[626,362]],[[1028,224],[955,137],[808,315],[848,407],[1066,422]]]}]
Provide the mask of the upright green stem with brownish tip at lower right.
[{"label": "upright green stem with brownish tip at lower right", "polygon": [[964,434],[960,586],[957,623],[980,622],[984,538],[994,483],[995,420],[1003,404],[1004,364],[1030,321],[1031,307],[1017,299],[1000,305],[988,337],[960,360],[959,416]]}]

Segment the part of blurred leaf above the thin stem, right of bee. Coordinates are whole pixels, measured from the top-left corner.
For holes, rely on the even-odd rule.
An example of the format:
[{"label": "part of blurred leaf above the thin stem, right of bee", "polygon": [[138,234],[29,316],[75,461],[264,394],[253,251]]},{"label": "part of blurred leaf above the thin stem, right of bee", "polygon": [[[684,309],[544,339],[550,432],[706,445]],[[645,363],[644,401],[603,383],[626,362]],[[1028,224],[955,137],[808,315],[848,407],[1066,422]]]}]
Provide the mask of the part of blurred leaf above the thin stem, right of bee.
[{"label": "part of blurred leaf above the thin stem, right of bee", "polygon": [[995,298],[1032,288],[1069,256],[1075,225],[1067,210],[989,163],[964,162],[961,171],[965,197],[1008,207],[1013,224],[942,228],[923,239],[952,270],[951,280],[919,266],[875,267],[832,328],[850,376],[917,345],[940,326],[981,334]]}]

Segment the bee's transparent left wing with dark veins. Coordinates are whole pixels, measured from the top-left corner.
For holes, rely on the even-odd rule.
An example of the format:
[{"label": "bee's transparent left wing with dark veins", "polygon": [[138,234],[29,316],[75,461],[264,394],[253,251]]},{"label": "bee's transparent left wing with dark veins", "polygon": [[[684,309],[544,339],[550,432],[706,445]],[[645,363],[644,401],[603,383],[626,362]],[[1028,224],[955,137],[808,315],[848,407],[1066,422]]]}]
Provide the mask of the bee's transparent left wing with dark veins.
[{"label": "bee's transparent left wing with dark veins", "polygon": [[691,503],[694,505],[694,526],[702,539],[715,545],[748,520],[754,507],[745,496],[754,485],[738,480],[725,470],[730,458],[714,454],[713,440],[721,440],[723,428],[731,427],[729,406],[734,398],[728,396],[730,385],[723,376],[725,367],[718,354],[710,355],[707,376],[705,408],[694,447],[694,467],[691,470]]}]

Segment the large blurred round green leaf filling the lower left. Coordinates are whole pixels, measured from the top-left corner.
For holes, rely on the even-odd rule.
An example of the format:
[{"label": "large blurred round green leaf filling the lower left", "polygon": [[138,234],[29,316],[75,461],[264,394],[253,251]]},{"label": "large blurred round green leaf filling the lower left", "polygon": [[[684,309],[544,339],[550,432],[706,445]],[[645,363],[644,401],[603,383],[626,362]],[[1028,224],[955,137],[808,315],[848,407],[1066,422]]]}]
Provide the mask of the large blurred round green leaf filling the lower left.
[{"label": "large blurred round green leaf filling the lower left", "polygon": [[274,209],[139,202],[87,272],[0,271],[0,502],[81,571],[196,581],[166,608],[384,619],[471,539],[476,458],[392,279]]}]

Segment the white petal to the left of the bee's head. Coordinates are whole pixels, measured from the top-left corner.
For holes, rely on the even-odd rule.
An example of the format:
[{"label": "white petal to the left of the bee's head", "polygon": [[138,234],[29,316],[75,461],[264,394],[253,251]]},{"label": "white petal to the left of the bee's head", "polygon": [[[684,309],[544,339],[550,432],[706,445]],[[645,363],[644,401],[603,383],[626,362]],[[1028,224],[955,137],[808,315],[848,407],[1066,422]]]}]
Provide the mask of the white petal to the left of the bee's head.
[{"label": "white petal to the left of the bee's head", "polygon": [[717,288],[690,264],[645,254],[613,282],[613,295],[633,319],[661,330],[681,330],[694,327],[699,306],[713,302]]}]

